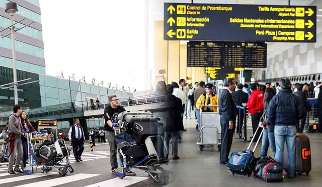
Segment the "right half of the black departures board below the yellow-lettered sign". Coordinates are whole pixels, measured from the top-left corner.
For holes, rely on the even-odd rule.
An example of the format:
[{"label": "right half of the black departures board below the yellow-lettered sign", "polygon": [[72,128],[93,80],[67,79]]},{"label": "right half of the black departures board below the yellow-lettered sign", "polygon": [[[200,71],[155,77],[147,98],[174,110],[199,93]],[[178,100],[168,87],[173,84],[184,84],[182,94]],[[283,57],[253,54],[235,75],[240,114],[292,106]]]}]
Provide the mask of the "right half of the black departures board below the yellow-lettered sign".
[{"label": "right half of the black departures board below the yellow-lettered sign", "polygon": [[224,43],[224,67],[266,68],[266,43]]}]

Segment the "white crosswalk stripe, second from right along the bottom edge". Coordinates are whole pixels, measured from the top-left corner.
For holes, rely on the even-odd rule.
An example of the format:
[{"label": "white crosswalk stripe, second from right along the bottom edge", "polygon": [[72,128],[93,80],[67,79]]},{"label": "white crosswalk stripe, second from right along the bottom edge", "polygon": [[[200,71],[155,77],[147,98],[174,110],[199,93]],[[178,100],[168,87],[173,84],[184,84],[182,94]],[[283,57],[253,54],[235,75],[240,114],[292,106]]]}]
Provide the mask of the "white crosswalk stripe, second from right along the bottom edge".
[{"label": "white crosswalk stripe, second from right along the bottom edge", "polygon": [[[74,175],[67,175],[64,177],[59,177],[59,178],[54,178],[54,179],[49,179],[49,180],[44,180],[44,181],[39,181],[39,182],[33,182],[29,184],[24,184],[24,185],[19,185],[19,187],[28,187],[28,186],[55,186],[55,185],[60,185],[68,182],[73,182],[77,180],[82,180],[85,178],[91,178],[94,176],[98,176],[99,174],[86,174],[86,173],[78,173]],[[32,175],[30,175],[32,176]]]}]

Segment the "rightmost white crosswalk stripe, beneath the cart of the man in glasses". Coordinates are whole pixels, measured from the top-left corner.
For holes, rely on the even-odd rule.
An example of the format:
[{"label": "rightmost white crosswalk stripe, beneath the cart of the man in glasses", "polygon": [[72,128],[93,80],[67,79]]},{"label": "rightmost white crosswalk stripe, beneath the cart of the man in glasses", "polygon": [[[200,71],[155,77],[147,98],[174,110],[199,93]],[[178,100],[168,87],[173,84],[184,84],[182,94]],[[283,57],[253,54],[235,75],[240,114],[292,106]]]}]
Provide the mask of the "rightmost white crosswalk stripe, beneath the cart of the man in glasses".
[{"label": "rightmost white crosswalk stripe, beneath the cart of the man in glasses", "polygon": [[146,180],[146,179],[148,179],[148,177],[126,176],[123,179],[116,177],[116,178],[113,178],[110,180],[105,180],[102,182],[91,184],[86,187],[103,187],[103,186],[121,187],[121,186],[131,185],[131,184],[134,184],[134,183],[140,182],[142,180]]}]

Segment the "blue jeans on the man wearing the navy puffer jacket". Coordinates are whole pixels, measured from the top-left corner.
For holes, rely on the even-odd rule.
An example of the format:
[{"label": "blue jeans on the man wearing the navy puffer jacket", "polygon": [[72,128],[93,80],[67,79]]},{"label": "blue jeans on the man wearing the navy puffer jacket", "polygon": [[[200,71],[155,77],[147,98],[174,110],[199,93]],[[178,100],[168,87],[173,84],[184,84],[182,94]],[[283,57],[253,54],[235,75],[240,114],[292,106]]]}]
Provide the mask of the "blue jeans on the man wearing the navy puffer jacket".
[{"label": "blue jeans on the man wearing the navy puffer jacket", "polygon": [[288,164],[287,175],[294,177],[295,174],[295,146],[296,146],[296,127],[295,126],[275,126],[274,136],[276,144],[275,160],[283,165],[284,142],[286,143]]}]

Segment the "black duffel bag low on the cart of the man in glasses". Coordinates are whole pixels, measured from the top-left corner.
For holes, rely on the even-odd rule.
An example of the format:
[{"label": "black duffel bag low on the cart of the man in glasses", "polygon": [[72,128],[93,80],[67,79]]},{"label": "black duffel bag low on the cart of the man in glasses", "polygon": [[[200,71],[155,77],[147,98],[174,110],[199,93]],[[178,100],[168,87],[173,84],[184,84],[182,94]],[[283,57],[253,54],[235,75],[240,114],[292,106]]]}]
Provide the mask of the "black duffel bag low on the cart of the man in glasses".
[{"label": "black duffel bag low on the cart of the man in glasses", "polygon": [[142,160],[148,155],[147,149],[142,145],[132,145],[123,152],[126,158],[126,164],[128,166]]}]

